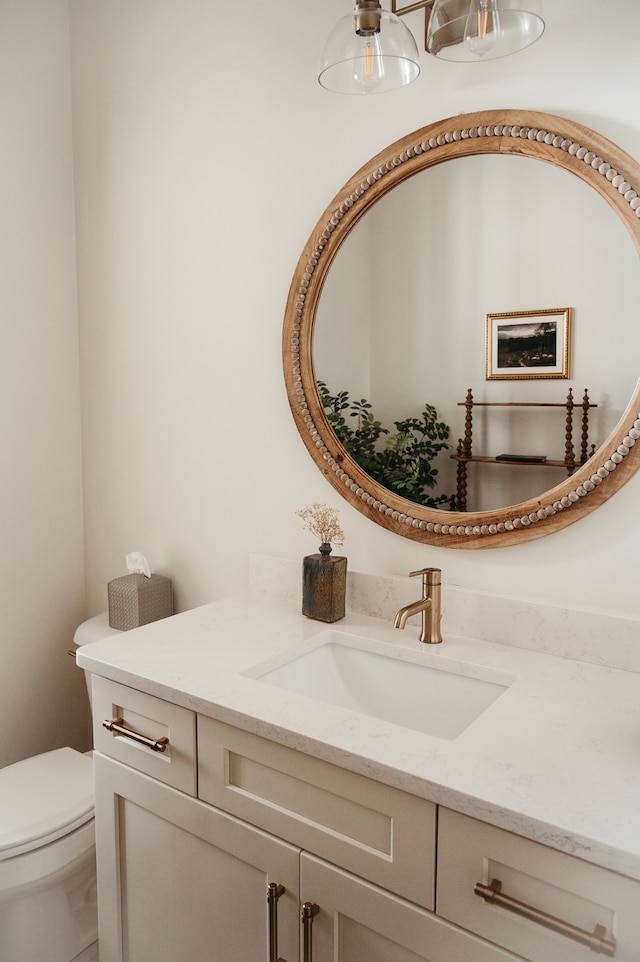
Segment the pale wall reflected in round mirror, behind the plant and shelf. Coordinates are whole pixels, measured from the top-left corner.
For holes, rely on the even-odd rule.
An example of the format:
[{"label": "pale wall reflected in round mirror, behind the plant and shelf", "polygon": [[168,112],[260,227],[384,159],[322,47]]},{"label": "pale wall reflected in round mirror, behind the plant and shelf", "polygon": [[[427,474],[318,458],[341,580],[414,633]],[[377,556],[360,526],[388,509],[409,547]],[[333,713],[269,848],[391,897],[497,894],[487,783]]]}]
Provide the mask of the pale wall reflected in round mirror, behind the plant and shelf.
[{"label": "pale wall reflected in round mirror, behind the plant and shelf", "polygon": [[[633,309],[637,277],[624,224],[583,181],[529,157],[458,157],[397,185],[341,244],[318,304],[315,377],[333,398],[347,392],[356,407],[366,399],[389,430],[381,450],[402,443],[398,422],[435,409],[434,446],[445,443],[433,428],[443,424],[449,447],[433,453],[437,474],[422,503],[446,510],[469,388],[476,402],[511,404],[564,404],[570,388],[578,403],[587,389],[597,405],[589,445],[606,439],[635,386],[638,345],[621,344],[615,331]],[[572,311],[569,377],[487,380],[485,316],[556,308]],[[362,411],[342,416],[355,429]],[[563,408],[479,407],[474,454],[563,459],[565,422]],[[517,504],[566,475],[547,464],[470,464],[468,508]]]}]

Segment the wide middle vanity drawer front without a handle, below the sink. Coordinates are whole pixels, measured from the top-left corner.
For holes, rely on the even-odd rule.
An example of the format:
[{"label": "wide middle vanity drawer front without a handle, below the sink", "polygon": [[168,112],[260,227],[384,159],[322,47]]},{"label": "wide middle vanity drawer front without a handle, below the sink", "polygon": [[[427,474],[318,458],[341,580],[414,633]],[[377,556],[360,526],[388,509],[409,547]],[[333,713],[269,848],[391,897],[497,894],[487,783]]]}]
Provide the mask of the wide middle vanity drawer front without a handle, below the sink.
[{"label": "wide middle vanity drawer front without a handle, below the sink", "polygon": [[204,801],[433,909],[431,802],[198,716]]}]

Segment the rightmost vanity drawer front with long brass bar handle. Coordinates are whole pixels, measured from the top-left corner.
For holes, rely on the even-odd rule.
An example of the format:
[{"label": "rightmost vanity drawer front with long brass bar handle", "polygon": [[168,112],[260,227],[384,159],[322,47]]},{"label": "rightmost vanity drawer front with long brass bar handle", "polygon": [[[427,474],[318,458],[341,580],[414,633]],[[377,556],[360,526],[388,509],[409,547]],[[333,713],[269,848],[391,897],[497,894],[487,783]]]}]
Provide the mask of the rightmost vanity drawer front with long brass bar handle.
[{"label": "rightmost vanity drawer front with long brass bar handle", "polygon": [[[491,903],[476,889],[490,898],[496,880]],[[640,959],[640,882],[447,809],[436,901],[450,922],[532,962]]]}]

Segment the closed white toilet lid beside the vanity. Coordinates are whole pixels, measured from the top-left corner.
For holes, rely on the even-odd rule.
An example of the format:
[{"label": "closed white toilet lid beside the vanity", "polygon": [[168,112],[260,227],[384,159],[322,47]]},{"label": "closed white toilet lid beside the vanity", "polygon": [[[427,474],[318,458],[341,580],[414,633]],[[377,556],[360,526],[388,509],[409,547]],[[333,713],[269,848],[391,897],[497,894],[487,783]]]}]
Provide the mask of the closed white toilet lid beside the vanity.
[{"label": "closed white toilet lid beside the vanity", "polygon": [[0,859],[53,842],[93,818],[93,762],[58,748],[0,770]]}]

